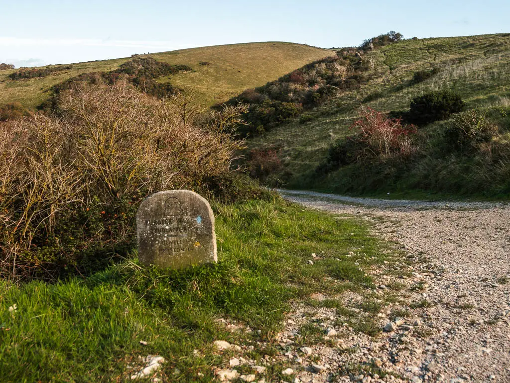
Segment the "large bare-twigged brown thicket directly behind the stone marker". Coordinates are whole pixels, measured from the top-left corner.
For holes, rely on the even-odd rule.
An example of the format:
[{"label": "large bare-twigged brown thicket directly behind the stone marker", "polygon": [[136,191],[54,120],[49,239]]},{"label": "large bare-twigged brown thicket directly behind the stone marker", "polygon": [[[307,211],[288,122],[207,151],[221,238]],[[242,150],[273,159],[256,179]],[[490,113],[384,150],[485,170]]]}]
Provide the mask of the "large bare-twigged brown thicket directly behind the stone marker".
[{"label": "large bare-twigged brown thicket directly behind the stone marker", "polygon": [[175,106],[120,84],[66,91],[59,112],[0,124],[3,275],[86,272],[132,245],[145,196],[201,191],[230,175],[239,149],[228,119],[184,122]]}]

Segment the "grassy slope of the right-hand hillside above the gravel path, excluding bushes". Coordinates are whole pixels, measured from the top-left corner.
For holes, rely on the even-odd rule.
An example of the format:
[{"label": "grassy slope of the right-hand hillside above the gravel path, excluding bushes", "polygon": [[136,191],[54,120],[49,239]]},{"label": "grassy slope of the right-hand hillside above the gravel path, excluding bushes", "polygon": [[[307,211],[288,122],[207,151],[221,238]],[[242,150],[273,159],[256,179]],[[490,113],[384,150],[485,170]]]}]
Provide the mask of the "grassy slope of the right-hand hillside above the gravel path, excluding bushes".
[{"label": "grassy slope of the right-hand hillside above the gravel path, excluding bushes", "polygon": [[[437,158],[419,159],[414,169],[403,170],[408,173],[398,182],[393,182],[391,169],[385,173],[388,171],[385,166],[382,169],[350,165],[319,179],[315,169],[336,140],[354,134],[349,127],[358,117],[357,110],[361,106],[381,111],[405,109],[417,95],[444,87],[459,93],[467,109],[487,111],[500,123],[503,131],[508,131],[510,120],[503,116],[510,115],[509,36],[404,40],[370,52],[364,60],[372,60],[374,68],[369,70],[369,81],[361,89],[343,91],[324,105],[307,111],[311,121],[300,123],[296,118],[248,140],[248,150],[269,145],[280,148],[279,158],[284,167],[274,177],[287,183],[288,188],[376,197],[391,192],[393,198],[411,199],[459,196],[507,199],[510,192],[505,183],[507,166],[500,166],[500,169],[499,165],[490,165],[492,167],[487,171],[483,156],[469,163],[444,155],[441,158],[439,147],[433,156],[440,157],[440,161]],[[440,69],[438,74],[418,84],[410,83],[415,71],[434,67]],[[440,122],[420,129],[430,145],[437,145],[443,125]],[[508,141],[504,134],[501,139]],[[395,171],[402,172],[400,169]]]}]

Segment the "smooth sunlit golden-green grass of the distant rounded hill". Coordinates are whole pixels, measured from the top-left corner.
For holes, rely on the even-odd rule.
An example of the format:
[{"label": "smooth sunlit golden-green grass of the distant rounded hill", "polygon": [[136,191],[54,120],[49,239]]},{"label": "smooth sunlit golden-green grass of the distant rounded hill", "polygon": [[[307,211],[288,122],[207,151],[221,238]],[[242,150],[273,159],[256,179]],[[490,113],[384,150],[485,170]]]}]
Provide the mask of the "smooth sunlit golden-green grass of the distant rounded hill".
[{"label": "smooth sunlit golden-green grass of the distant rounded hill", "polygon": [[[308,62],[333,55],[334,52],[309,45],[287,42],[259,42],[218,45],[162,52],[141,57],[152,57],[171,65],[185,64],[192,72],[171,76],[172,85],[194,86],[207,105],[223,102],[246,88],[260,86]],[[73,64],[71,69],[47,77],[11,80],[16,71],[0,71],[0,106],[19,101],[34,108],[48,97],[48,89],[73,76],[92,71],[109,71],[129,60],[90,61]],[[200,65],[199,63],[209,63]],[[160,79],[160,81],[168,81]]]}]

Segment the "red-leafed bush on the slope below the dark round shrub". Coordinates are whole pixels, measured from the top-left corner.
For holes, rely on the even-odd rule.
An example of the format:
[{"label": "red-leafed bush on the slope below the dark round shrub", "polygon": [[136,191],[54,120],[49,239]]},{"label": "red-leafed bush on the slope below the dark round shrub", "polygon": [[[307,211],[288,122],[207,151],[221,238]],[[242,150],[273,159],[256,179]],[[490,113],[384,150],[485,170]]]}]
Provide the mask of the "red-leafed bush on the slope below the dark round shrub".
[{"label": "red-leafed bush on the slope below the dark round shrub", "polygon": [[354,122],[350,129],[360,131],[358,140],[364,142],[366,149],[375,156],[413,151],[414,125],[402,125],[401,119],[388,118],[386,113],[371,108],[362,109],[361,114],[362,118]]}]

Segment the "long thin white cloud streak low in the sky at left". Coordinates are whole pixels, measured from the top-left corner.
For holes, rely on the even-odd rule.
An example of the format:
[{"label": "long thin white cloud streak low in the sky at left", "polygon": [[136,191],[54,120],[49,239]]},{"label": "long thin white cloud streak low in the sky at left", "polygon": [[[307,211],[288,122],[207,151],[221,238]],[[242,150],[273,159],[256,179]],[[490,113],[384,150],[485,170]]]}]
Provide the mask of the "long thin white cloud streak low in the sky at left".
[{"label": "long thin white cloud streak low in the sky at left", "polygon": [[190,44],[180,44],[174,41],[158,40],[110,40],[110,39],[80,39],[80,38],[20,38],[0,36],[2,47],[22,46],[118,46],[128,48],[151,49],[179,49],[189,47]]}]

